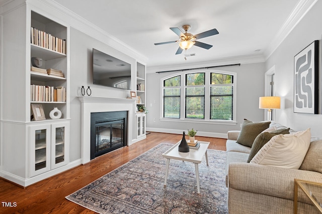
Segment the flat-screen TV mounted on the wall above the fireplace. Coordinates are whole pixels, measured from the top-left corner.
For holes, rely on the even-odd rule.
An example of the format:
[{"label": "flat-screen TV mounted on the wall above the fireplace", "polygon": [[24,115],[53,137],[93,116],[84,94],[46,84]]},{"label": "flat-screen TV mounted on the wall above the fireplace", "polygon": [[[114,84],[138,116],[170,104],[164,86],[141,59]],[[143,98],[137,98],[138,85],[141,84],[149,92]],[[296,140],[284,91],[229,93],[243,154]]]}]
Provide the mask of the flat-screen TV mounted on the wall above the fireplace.
[{"label": "flat-screen TV mounted on the wall above the fireplace", "polygon": [[93,48],[93,84],[131,89],[131,64]]}]

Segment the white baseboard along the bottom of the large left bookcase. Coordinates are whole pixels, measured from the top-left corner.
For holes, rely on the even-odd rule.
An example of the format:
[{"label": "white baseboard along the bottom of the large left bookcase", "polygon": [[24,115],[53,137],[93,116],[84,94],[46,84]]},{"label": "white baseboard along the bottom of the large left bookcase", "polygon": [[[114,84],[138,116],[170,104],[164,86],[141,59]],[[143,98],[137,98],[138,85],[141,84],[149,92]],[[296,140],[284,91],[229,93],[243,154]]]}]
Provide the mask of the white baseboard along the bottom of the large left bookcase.
[{"label": "white baseboard along the bottom of the large left bookcase", "polygon": [[61,173],[63,171],[71,169],[73,167],[79,166],[81,164],[82,164],[81,159],[78,159],[78,160],[72,161],[72,162],[70,162],[70,163],[68,163],[68,164],[66,164],[64,166],[61,166],[59,168],[47,171],[45,173],[42,173],[40,175],[36,175],[34,177],[30,177],[30,178],[23,178],[23,177],[17,176],[15,174],[12,174],[12,173],[9,173],[9,172],[6,172],[6,171],[1,171],[0,175],[1,175],[1,177],[3,177],[6,180],[14,182],[14,183],[16,183],[18,185],[21,185],[23,187],[26,187],[26,186],[29,186],[29,185],[34,184],[36,182],[39,182],[41,180],[44,180],[44,179],[46,179],[48,177],[54,176],[56,174],[59,174],[59,173]]}]

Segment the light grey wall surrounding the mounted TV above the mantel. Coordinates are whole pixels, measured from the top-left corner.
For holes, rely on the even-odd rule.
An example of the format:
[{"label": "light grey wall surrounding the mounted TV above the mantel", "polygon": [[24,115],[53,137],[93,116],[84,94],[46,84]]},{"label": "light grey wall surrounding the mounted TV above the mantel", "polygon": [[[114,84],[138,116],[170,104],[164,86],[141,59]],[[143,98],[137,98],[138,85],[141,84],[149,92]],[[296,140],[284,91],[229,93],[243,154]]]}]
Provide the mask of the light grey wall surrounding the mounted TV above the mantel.
[{"label": "light grey wall surrounding the mounted TV above the mantel", "polygon": [[[81,158],[81,87],[90,86],[91,96],[126,98],[129,90],[93,85],[93,48],[110,54],[135,66],[135,60],[120,51],[90,37],[74,28],[70,29],[70,161]],[[132,67],[135,71],[135,67]],[[136,85],[132,84],[134,90]],[[87,96],[87,95],[86,95]],[[107,109],[108,111],[108,109]],[[132,133],[135,133],[134,130]]]}]

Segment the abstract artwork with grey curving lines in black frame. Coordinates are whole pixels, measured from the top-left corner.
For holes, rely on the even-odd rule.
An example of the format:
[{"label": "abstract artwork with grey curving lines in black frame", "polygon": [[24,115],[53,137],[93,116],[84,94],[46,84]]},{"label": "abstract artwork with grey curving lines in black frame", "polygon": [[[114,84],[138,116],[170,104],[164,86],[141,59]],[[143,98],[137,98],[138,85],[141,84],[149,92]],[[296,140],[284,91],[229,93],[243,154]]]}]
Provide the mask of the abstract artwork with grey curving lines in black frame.
[{"label": "abstract artwork with grey curving lines in black frame", "polygon": [[294,112],[318,113],[318,40],[294,57]]}]

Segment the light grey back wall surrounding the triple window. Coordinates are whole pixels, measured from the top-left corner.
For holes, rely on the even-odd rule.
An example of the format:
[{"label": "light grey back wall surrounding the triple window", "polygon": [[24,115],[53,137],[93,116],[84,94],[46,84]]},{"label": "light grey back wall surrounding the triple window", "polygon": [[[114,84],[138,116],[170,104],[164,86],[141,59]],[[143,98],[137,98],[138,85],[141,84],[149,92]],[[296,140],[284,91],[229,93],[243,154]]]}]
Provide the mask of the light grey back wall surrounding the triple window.
[{"label": "light grey back wall surrounding the triple window", "polygon": [[[203,67],[200,65],[200,67]],[[222,67],[216,70],[231,71],[237,73],[237,100],[236,100],[236,122],[237,124],[209,124],[189,122],[160,121],[160,79],[175,74],[171,73],[148,73],[146,75],[146,129],[148,131],[160,131],[179,133],[194,128],[198,130],[197,135],[226,137],[228,130],[239,130],[240,123],[244,118],[252,121],[264,120],[265,110],[259,109],[259,97],[264,96],[264,63],[241,64],[240,66]],[[152,106],[151,106],[152,105]],[[154,122],[155,118],[155,122]],[[182,132],[181,132],[182,133]]]}]

